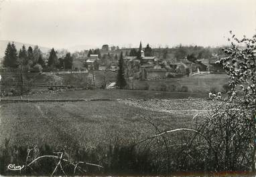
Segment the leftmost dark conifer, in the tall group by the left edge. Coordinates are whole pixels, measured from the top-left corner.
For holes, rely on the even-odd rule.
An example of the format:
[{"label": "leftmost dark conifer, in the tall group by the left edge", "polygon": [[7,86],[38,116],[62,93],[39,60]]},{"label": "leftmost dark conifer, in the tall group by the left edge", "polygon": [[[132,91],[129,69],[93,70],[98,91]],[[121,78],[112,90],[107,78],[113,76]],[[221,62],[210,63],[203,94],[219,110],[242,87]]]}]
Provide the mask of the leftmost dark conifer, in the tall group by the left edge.
[{"label": "leftmost dark conifer, in the tall group by the left edge", "polygon": [[17,49],[14,43],[8,43],[5,49],[5,56],[3,57],[3,65],[5,67],[16,68],[17,65]]}]

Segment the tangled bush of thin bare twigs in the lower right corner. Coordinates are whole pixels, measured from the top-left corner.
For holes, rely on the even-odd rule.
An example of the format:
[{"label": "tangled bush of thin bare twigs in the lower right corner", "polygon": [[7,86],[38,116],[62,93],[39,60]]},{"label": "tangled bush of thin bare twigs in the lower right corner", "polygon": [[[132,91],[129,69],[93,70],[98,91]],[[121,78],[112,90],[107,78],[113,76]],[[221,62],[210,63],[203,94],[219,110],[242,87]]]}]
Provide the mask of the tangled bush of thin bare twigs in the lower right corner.
[{"label": "tangled bush of thin bare twigs in the lower right corner", "polygon": [[198,131],[204,135],[208,145],[199,146],[198,151],[202,157],[207,154],[204,156],[207,170],[251,170],[253,122],[251,112],[239,107],[220,104],[200,123]]}]

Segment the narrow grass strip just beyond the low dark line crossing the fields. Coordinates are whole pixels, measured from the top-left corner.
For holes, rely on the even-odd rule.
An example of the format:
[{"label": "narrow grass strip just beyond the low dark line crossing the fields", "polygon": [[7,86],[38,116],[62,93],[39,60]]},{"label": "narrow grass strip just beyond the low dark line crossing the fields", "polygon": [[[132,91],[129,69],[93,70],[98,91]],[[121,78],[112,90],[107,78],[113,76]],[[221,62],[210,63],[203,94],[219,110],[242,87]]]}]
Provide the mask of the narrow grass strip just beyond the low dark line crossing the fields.
[{"label": "narrow grass strip just beyond the low dark line crossing the fields", "polygon": [[[192,92],[161,92],[151,90],[76,90],[65,92],[44,92],[42,94],[24,95],[23,99],[184,99],[207,98],[208,94]],[[19,99],[16,97],[5,97]]]}]

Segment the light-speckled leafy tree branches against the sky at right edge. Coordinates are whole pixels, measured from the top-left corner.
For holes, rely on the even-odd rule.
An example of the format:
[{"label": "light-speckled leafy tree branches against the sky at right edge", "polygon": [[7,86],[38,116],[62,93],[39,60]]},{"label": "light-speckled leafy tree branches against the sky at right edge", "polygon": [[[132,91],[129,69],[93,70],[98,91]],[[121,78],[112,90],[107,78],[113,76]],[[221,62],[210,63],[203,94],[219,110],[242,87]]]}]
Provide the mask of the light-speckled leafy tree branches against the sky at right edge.
[{"label": "light-speckled leafy tree branches against the sky at right edge", "polygon": [[[232,35],[232,32],[231,32]],[[247,108],[255,108],[256,100],[256,37],[248,39],[244,36],[239,40],[235,35],[232,39],[239,43],[244,44],[245,47],[239,47],[233,41],[231,48],[223,49],[227,57],[220,59],[220,63],[224,66],[227,74],[230,75],[232,81],[229,83],[231,86],[231,100],[237,98]],[[237,97],[238,87],[241,87],[241,94],[243,98]]]}]

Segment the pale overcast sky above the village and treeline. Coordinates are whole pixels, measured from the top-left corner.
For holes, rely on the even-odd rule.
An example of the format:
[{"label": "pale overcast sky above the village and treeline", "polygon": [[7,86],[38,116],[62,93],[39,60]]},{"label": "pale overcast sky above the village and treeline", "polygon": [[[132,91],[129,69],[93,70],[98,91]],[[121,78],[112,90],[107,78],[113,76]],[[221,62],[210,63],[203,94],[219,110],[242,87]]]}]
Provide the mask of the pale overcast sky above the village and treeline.
[{"label": "pale overcast sky above the village and treeline", "polygon": [[216,46],[230,30],[256,33],[255,0],[5,0],[0,14],[0,39],[45,47]]}]

